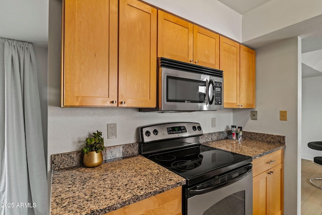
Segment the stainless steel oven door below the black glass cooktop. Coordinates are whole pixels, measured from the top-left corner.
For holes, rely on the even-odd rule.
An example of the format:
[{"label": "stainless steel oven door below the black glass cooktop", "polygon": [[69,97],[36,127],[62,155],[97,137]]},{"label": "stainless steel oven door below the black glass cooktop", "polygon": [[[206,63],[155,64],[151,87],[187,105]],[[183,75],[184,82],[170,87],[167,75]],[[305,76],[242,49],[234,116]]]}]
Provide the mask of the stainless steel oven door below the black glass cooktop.
[{"label": "stainless steel oven door below the black glass cooktop", "polygon": [[201,191],[192,188],[188,193],[195,195],[187,199],[187,215],[253,214],[252,170],[222,187],[212,189],[210,186]]}]

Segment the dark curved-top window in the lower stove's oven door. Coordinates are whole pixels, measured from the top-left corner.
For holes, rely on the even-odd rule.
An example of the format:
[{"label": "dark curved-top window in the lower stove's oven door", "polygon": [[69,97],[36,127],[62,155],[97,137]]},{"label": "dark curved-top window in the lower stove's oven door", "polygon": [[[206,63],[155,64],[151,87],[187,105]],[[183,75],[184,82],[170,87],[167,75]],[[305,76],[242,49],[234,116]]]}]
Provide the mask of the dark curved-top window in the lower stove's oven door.
[{"label": "dark curved-top window in the lower stove's oven door", "polygon": [[217,214],[245,215],[245,190],[221,199],[203,213],[203,215]]}]

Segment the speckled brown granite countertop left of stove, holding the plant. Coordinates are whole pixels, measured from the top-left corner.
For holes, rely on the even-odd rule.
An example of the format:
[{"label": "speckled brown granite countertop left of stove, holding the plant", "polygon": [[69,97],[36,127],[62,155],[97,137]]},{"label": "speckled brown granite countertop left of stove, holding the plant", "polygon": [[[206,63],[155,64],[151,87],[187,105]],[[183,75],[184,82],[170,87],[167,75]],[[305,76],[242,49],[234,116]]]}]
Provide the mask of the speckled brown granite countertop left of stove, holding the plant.
[{"label": "speckled brown granite countertop left of stove, holding the plant", "polygon": [[140,155],[60,169],[52,172],[51,214],[104,214],[185,183]]}]

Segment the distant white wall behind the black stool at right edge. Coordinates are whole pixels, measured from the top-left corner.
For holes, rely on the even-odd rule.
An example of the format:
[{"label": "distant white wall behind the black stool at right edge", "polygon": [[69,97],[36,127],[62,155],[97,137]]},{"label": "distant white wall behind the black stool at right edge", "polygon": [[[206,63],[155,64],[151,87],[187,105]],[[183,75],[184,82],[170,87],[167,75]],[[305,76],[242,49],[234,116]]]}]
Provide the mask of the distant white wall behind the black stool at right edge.
[{"label": "distant white wall behind the black stool at right edge", "polygon": [[311,141],[322,141],[322,77],[302,79],[302,158],[313,160],[321,151],[307,147]]}]

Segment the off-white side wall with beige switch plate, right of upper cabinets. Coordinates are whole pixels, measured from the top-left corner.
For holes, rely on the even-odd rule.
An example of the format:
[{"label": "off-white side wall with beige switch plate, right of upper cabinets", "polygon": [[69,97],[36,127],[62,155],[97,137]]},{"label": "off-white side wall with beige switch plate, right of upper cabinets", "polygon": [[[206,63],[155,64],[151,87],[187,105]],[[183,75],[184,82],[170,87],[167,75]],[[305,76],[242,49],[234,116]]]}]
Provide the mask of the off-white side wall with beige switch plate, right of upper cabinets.
[{"label": "off-white side wall with beige switch plate, right of upper cabinets", "polygon": [[[298,38],[291,38],[256,50],[258,118],[250,119],[250,109],[233,111],[233,124],[243,126],[243,130],[286,136],[284,214],[297,214],[300,206],[296,207],[298,42]],[[287,110],[287,121],[279,120],[280,110]]]}]

